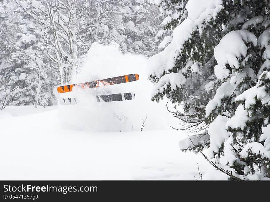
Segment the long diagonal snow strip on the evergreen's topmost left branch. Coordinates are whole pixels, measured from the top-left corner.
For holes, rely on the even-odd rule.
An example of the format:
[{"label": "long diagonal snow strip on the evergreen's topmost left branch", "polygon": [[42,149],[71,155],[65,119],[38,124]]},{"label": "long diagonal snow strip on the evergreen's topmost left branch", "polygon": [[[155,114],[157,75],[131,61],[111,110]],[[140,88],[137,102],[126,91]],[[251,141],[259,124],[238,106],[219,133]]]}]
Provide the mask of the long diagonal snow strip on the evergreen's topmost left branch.
[{"label": "long diagonal snow strip on the evergreen's topmost left branch", "polygon": [[189,16],[174,29],[172,42],[149,59],[149,75],[160,78],[164,71],[168,73],[175,66],[175,59],[181,54],[184,43],[192,37],[195,30],[201,29],[203,23],[217,17],[217,13],[223,9],[223,3],[221,0],[190,0],[186,8]]}]

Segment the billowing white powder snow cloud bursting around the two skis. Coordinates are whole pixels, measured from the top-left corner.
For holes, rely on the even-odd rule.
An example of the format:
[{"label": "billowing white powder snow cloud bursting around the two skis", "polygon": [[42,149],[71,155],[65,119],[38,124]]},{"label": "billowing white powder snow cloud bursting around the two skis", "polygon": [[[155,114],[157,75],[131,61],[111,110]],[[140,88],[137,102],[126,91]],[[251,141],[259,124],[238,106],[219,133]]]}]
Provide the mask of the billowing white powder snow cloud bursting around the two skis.
[{"label": "billowing white powder snow cloud bursting around the two skis", "polygon": [[[142,55],[122,54],[118,44],[103,46],[94,43],[89,49],[85,64],[79,73],[74,74],[72,83],[83,83],[139,74],[139,80],[129,83],[100,86],[61,93],[62,98],[76,97],[77,105],[59,105],[59,117],[63,127],[91,130],[96,132],[140,131],[169,129],[168,123],[174,121],[165,104],[151,101],[152,83],[146,75],[147,58]],[[97,95],[116,93],[135,93],[134,100],[97,102]],[[142,120],[143,119],[143,120]]]}]

